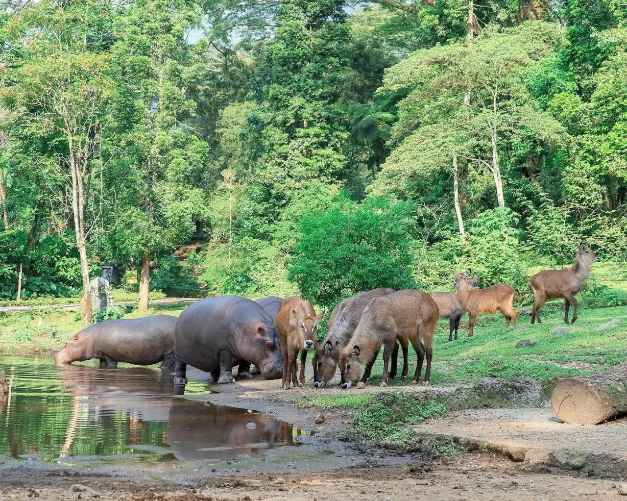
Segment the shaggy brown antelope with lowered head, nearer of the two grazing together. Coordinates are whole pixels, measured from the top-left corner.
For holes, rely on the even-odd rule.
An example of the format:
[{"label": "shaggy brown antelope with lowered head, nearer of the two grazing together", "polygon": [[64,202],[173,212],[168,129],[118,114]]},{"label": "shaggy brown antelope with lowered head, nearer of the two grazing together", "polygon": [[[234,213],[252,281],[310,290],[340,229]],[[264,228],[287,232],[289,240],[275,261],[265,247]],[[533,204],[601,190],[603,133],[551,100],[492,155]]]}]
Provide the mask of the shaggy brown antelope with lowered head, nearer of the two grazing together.
[{"label": "shaggy brown antelope with lowered head, nearer of the two grazing together", "polygon": [[340,351],[338,365],[342,376],[342,388],[357,384],[361,367],[383,348],[383,375],[379,386],[386,386],[389,377],[387,366],[396,341],[411,343],[418,354],[418,363],[412,382],[420,379],[424,355],[427,367],[424,383],[431,379],[433,358],[433,331],[438,322],[438,305],[423,291],[398,291],[372,299],[364,311],[354,334]]}]

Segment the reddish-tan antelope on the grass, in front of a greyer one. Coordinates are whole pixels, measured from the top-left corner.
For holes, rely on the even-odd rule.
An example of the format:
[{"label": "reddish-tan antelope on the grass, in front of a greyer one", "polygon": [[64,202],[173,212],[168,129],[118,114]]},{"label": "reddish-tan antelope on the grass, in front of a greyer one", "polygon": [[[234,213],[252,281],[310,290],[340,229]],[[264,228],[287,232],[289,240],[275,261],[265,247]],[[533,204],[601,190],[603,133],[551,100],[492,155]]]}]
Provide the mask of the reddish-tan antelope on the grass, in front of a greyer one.
[{"label": "reddish-tan antelope on the grass, in front of a greyer one", "polygon": [[500,310],[505,316],[505,327],[510,321],[516,326],[516,311],[514,298],[516,291],[506,284],[495,284],[486,289],[477,288],[476,276],[468,278],[472,270],[468,268],[464,273],[455,274],[453,286],[456,287],[457,299],[464,311],[468,311],[468,337],[472,336],[475,322],[479,313],[492,313]]}]

